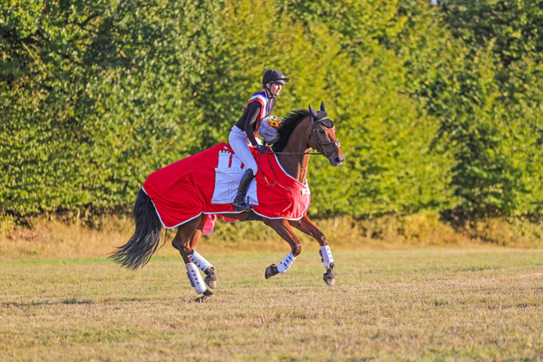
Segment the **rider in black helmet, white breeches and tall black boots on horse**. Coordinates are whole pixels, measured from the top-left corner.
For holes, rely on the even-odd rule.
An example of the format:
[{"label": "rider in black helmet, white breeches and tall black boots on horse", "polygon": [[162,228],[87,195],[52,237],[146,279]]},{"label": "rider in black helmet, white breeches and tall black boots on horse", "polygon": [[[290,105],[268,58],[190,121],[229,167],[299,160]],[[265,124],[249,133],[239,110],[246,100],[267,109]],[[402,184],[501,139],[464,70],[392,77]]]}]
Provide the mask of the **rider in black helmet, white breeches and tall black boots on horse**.
[{"label": "rider in black helmet, white breeches and tall black boots on horse", "polygon": [[255,136],[258,125],[260,119],[270,115],[271,109],[275,105],[275,98],[281,93],[281,88],[289,79],[276,69],[266,71],[262,77],[262,88],[264,91],[252,95],[249,104],[243,111],[243,115],[241,115],[238,122],[230,131],[230,135],[228,136],[230,147],[232,147],[235,155],[245,165],[245,173],[241,177],[238,194],[236,194],[233,202],[234,211],[243,211],[251,208],[245,202],[245,194],[247,193],[247,187],[249,187],[253,177],[257,174],[258,166],[249,146],[255,147],[260,152],[266,151],[266,146],[259,144],[260,140]]}]

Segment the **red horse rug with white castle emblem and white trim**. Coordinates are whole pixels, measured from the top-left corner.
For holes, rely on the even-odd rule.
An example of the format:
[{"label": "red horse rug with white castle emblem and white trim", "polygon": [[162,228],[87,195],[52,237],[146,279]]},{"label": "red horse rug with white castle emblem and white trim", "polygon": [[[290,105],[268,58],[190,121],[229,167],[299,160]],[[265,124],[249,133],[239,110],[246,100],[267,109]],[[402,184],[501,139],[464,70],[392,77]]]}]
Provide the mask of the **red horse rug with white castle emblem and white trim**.
[{"label": "red horse rug with white castle emblem and white trim", "polygon": [[[268,151],[271,151],[268,149]],[[252,149],[258,172],[247,189],[247,204],[265,218],[298,220],[305,216],[311,202],[305,185],[288,175],[273,153]],[[238,192],[244,165],[229,144],[221,143],[152,173],[144,182],[160,222],[175,228],[204,214],[235,214],[232,203]],[[213,230],[214,217],[206,229]],[[204,230],[206,231],[206,230]]]}]

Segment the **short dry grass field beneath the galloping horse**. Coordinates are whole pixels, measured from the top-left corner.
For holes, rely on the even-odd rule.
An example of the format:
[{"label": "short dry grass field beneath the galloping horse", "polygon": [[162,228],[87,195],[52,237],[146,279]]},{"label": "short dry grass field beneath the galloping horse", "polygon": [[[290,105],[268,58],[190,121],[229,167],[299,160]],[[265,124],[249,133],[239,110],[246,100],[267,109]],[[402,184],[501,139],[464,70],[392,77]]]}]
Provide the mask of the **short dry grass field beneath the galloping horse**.
[{"label": "short dry grass field beneath the galloping horse", "polygon": [[334,288],[309,246],[265,280],[285,253],[206,255],[204,303],[180,257],[2,261],[0,360],[543,360],[543,250],[334,252]]}]

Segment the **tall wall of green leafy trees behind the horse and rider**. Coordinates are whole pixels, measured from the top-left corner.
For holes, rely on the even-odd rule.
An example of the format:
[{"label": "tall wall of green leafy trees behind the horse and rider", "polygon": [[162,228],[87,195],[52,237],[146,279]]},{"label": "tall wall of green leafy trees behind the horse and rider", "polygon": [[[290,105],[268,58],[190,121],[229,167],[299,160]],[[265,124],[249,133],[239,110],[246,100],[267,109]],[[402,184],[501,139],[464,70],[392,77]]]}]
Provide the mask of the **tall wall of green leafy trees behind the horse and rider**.
[{"label": "tall wall of green leafy trees behind the horse and rider", "polygon": [[279,115],[325,100],[337,124],[311,214],[539,214],[541,6],[429,3],[4,1],[0,214],[130,211],[228,139],[269,68],[292,78]]}]

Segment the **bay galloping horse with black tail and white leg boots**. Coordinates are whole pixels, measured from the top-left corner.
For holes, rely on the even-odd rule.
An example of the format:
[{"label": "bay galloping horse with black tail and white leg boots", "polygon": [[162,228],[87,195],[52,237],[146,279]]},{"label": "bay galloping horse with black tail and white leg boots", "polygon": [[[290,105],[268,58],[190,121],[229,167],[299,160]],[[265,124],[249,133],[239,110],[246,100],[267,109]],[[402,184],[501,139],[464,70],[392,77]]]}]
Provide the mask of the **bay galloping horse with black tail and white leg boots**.
[{"label": "bay galloping horse with black tail and white leg boots", "polygon": [[[301,184],[307,185],[306,177],[311,155],[325,156],[330,165],[334,167],[339,167],[344,162],[345,157],[340,148],[341,144],[339,144],[335,136],[334,122],[328,117],[324,102],[321,103],[319,112],[310,105],[308,110],[291,112],[281,123],[278,133],[279,139],[275,141],[271,148],[267,148],[269,150],[266,152],[268,153],[267,156],[269,157],[273,153],[272,156],[276,156],[276,160],[278,160],[286,174],[298,180]],[[259,153],[259,155],[264,154]],[[258,156],[257,158],[261,157]],[[194,218],[190,218],[178,225],[177,233],[172,241],[173,247],[180,252],[185,262],[187,276],[191,285],[197,294],[202,294],[197,298],[197,301],[213,296],[214,293],[209,291],[206,285],[214,289],[217,282],[213,264],[195,250],[208,219],[207,214],[202,211]],[[325,274],[323,274],[323,280],[328,286],[334,286],[336,278],[334,274],[335,262],[328,240],[325,233],[315,226],[315,223],[310,220],[307,214],[304,213],[303,217],[294,220],[268,218],[250,209],[227,212],[221,214],[221,216],[236,221],[262,221],[264,225],[273,228],[290,245],[291,251],[281,260],[279,265],[271,264],[266,268],[264,272],[265,279],[287,271],[294,259],[300,255],[302,245],[293,233],[292,228],[296,228],[315,238],[320,245],[319,253],[326,270]],[[134,223],[136,224],[134,235],[125,245],[117,247],[115,252],[110,255],[110,258],[114,259],[115,262],[128,269],[137,269],[147,264],[160,243],[163,221],[159,218],[158,209],[153,204],[153,200],[146,194],[144,187],[139,190],[134,204]],[[198,269],[201,269],[206,275],[204,281],[202,281]]]}]

